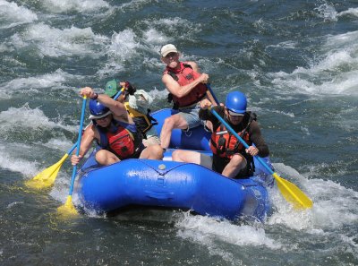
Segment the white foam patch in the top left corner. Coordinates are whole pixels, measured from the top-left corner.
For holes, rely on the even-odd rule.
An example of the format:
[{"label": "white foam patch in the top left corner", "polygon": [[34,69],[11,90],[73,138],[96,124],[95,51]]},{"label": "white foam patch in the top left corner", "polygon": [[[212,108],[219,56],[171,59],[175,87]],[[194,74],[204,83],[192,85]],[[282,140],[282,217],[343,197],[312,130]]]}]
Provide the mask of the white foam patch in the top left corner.
[{"label": "white foam patch in the top left corner", "polygon": [[37,21],[38,16],[24,6],[0,0],[0,29],[9,29],[21,24]]}]

